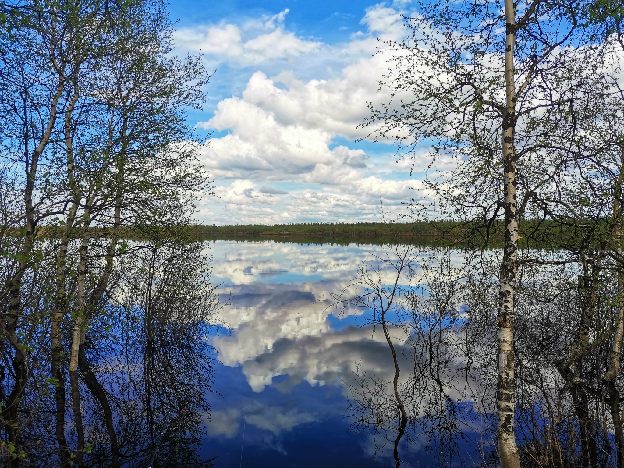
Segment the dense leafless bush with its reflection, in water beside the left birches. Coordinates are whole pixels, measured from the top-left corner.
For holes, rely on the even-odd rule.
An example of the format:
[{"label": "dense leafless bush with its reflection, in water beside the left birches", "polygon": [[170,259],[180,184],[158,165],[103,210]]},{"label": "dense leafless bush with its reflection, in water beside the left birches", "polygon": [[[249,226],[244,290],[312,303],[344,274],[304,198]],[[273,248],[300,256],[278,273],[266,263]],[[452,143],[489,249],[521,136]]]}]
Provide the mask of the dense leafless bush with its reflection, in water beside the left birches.
[{"label": "dense leafless bush with its reflection, in water beside the left birches", "polygon": [[[114,332],[108,337],[112,355],[100,351],[104,343],[92,352],[110,363],[101,371],[107,389],[115,389],[117,438],[126,464],[149,460],[164,432],[154,467],[212,466],[195,453],[209,409],[204,392],[212,383],[212,348],[205,337],[220,308],[202,249],[202,243],[159,240],[120,264],[112,313],[100,324]],[[90,428],[91,438],[99,427]],[[110,459],[106,436],[102,432],[102,443],[94,446],[94,465]]]}]

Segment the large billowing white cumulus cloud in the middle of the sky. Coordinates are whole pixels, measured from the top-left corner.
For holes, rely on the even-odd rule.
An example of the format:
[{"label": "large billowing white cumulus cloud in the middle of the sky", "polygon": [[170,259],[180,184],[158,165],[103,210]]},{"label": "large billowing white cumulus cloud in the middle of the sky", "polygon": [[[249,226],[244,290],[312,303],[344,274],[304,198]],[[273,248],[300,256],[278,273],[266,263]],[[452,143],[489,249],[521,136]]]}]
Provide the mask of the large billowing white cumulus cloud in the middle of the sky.
[{"label": "large billowing white cumulus cloud in the middle of the sky", "polygon": [[212,119],[198,122],[204,129],[231,132],[210,139],[203,160],[217,177],[348,184],[362,177],[356,170],[366,168],[369,157],[363,150],[329,145],[336,135],[368,132],[358,129],[368,112],[366,100],[375,94],[376,84],[367,86],[364,92],[348,78],[313,80],[290,91],[256,72],[242,98],[222,100]]}]

